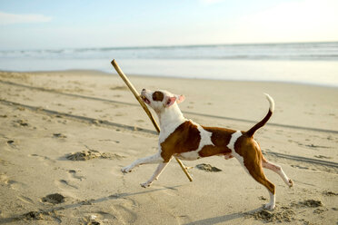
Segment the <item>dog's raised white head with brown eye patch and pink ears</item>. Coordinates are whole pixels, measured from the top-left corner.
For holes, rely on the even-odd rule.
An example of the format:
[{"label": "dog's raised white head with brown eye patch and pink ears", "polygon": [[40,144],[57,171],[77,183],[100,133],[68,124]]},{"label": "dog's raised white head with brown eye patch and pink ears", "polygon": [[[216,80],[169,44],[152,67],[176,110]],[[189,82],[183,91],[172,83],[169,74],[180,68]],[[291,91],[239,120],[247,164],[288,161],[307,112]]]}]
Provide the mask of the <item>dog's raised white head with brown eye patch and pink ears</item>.
[{"label": "dog's raised white head with brown eye patch and pink ears", "polygon": [[153,92],[146,89],[142,90],[141,98],[155,112],[162,112],[165,108],[171,107],[174,103],[182,103],[185,99],[184,95],[169,93],[163,90]]}]

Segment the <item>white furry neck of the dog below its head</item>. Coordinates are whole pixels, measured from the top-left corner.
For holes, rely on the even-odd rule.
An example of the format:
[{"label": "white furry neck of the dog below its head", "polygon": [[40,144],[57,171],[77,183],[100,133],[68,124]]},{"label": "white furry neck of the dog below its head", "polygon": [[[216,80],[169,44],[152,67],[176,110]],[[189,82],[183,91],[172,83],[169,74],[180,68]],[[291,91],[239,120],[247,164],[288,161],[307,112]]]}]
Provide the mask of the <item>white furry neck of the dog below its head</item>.
[{"label": "white furry neck of the dog below its head", "polygon": [[165,107],[156,113],[160,120],[161,130],[165,130],[168,126],[178,126],[186,120],[177,103],[174,103],[170,107]]}]

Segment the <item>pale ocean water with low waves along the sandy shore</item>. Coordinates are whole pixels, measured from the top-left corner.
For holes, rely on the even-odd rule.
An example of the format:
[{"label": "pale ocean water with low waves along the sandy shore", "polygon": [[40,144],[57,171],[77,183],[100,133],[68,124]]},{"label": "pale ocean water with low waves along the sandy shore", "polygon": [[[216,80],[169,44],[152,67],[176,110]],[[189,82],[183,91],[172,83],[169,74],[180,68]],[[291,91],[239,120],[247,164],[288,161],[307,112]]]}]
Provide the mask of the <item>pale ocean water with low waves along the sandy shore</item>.
[{"label": "pale ocean water with low waves along the sandy shore", "polygon": [[0,70],[114,73],[113,59],[134,75],[338,87],[338,42],[6,50]]}]

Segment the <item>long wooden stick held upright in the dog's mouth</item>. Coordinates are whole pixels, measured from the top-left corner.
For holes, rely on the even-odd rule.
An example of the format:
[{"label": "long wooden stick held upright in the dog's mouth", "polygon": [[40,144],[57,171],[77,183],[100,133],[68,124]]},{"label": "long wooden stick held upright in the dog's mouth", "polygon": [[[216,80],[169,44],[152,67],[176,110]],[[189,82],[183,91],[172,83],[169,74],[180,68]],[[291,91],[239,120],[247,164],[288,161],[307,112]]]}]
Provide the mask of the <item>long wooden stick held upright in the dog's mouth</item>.
[{"label": "long wooden stick held upright in the dog's mouth", "polygon": [[[142,108],[144,108],[144,111],[148,115],[149,119],[153,122],[153,125],[156,131],[160,133],[161,131],[160,127],[158,126],[157,122],[154,120],[154,116],[152,112],[149,111],[148,107],[145,105],[144,101],[141,99],[139,93],[137,93],[136,89],[134,88],[133,83],[131,83],[129,79],[124,75],[124,72],[121,70],[118,64],[116,64],[115,60],[112,61],[112,65],[114,66],[114,69],[116,70],[116,72],[121,76],[122,80],[124,80],[124,83],[129,87],[130,91],[134,93],[134,97],[136,98],[138,103],[141,104]],[[180,161],[176,157],[174,158],[178,162],[178,164],[181,166],[182,170],[184,171],[185,175],[188,177],[189,181],[193,181],[193,178],[190,176],[189,172],[186,170],[186,167],[184,166],[182,161]]]}]

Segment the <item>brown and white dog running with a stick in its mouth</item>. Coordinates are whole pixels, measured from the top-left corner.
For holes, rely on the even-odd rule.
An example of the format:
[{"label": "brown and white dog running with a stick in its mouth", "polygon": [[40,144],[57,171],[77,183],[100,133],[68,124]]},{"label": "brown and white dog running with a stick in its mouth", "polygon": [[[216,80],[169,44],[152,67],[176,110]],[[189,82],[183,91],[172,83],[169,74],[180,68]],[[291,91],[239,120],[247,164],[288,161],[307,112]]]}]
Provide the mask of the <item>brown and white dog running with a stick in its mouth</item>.
[{"label": "brown and white dog running with a stick in its mouth", "polygon": [[269,112],[261,122],[255,124],[249,131],[243,132],[218,127],[204,127],[187,120],[177,104],[184,101],[183,95],[167,91],[152,92],[144,89],[141,97],[144,103],[154,109],[160,121],[159,150],[153,156],[134,161],[124,167],[122,171],[130,172],[135,166],[159,163],[153,176],[141,184],[145,188],[158,179],[173,156],[187,161],[213,155],[224,156],[226,160],[234,157],[255,181],[261,183],[268,190],[270,202],[265,204],[264,208],[272,210],[275,206],[274,185],[265,177],[263,168],[276,172],[289,187],[293,186],[293,181],[285,175],[280,166],[263,157],[259,144],[254,140],[254,132],[263,127],[273,114],[273,98],[268,94],[265,95],[270,103]]}]

